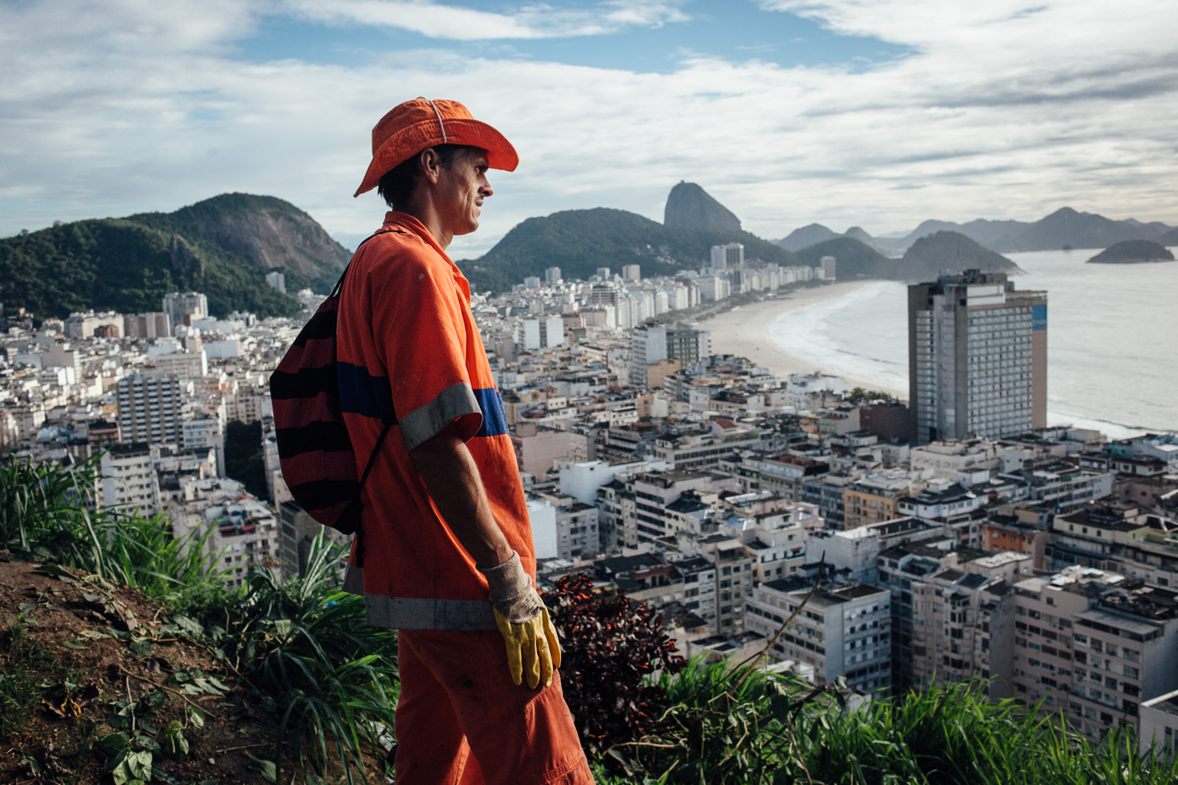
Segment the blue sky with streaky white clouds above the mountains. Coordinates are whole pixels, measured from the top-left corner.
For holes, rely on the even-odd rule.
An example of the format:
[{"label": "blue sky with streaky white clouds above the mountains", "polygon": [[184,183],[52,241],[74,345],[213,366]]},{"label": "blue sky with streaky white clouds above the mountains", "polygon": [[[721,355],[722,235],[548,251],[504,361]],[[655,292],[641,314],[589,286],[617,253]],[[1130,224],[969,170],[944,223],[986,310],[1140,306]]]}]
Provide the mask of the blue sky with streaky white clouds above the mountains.
[{"label": "blue sky with streaky white clouds above the mountains", "polygon": [[1172,0],[0,0],[0,235],[286,199],[351,247],[423,95],[519,151],[478,232],[699,182],[780,238],[1063,206],[1178,224]]}]

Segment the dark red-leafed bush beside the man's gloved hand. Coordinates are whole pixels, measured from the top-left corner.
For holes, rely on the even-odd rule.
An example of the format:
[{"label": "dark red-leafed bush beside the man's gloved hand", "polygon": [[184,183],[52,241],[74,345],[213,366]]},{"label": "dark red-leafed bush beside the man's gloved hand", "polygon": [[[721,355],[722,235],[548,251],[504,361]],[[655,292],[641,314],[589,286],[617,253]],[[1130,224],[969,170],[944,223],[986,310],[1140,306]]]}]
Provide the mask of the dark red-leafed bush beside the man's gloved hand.
[{"label": "dark red-leafed bush beside the man's gloved hand", "polygon": [[585,750],[601,753],[654,730],[663,691],[643,680],[686,665],[659,613],[624,594],[595,594],[583,574],[561,578],[544,600],[561,634],[564,700]]}]

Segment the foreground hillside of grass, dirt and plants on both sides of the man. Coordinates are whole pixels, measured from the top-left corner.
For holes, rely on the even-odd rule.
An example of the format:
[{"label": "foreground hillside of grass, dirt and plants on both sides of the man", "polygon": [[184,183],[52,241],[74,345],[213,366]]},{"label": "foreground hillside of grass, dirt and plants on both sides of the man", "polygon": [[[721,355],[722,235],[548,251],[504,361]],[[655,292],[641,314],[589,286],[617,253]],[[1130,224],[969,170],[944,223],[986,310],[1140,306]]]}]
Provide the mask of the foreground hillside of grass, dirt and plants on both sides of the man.
[{"label": "foreground hillside of grass, dirt and plants on both sides of the man", "polygon": [[[0,466],[0,772],[28,785],[385,781],[396,633],[339,591],[342,551],[240,588],[163,517],[84,506],[95,460]],[[42,566],[35,567],[37,563]],[[756,663],[684,664],[657,613],[583,577],[547,596],[601,785],[1173,785],[981,683],[865,701]],[[788,620],[787,620],[788,624]],[[395,749],[395,747],[393,747]]]}]

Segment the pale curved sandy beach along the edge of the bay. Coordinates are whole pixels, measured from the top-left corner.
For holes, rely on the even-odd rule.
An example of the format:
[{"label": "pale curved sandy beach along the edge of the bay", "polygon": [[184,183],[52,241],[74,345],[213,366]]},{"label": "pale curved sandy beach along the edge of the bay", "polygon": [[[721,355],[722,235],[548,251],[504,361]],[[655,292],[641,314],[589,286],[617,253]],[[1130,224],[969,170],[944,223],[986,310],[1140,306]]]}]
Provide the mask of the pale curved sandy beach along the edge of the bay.
[{"label": "pale curved sandy beach along the edge of the bay", "polygon": [[769,328],[781,314],[851,294],[862,286],[863,282],[847,281],[816,288],[799,290],[781,299],[740,306],[733,311],[706,319],[700,322],[700,326],[712,333],[712,352],[714,354],[747,357],[761,367],[773,371],[782,381],[790,373],[823,371],[843,377],[852,386],[865,387],[867,390],[882,390],[884,392],[902,394],[907,398],[907,391],[885,390],[878,384],[848,377],[832,368],[823,367],[814,360],[790,354],[777,346],[769,337]]}]

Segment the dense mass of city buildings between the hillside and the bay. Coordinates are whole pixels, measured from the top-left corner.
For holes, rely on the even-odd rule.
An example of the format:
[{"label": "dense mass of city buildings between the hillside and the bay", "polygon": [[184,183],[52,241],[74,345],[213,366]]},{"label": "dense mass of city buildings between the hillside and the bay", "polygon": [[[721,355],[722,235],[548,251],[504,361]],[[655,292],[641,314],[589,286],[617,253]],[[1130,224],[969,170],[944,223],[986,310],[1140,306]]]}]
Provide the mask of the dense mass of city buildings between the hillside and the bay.
[{"label": "dense mass of city buildings between the hillside and the bay", "polygon": [[[909,288],[907,405],[717,355],[694,320],[834,274],[734,244],[673,278],[552,267],[472,295],[541,584],[583,572],[643,600],[688,656],[879,694],[982,677],[1093,739],[1129,723],[1172,746],[1178,438],[1046,427],[1046,294],[1001,275]],[[265,380],[302,318],[170,298],[11,328],[0,444],[105,450],[107,504],[211,528],[234,578],[297,573],[318,526],[283,483]],[[263,425],[269,505],[224,477],[234,419]]]}]

